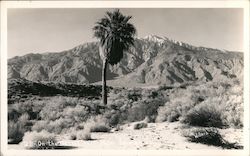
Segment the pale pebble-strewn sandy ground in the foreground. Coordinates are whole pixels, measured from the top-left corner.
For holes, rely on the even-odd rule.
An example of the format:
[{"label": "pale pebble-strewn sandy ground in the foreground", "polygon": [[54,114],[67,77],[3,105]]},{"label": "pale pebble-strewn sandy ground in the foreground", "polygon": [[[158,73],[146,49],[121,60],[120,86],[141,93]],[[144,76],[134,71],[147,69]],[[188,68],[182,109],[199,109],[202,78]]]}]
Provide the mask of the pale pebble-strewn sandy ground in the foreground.
[{"label": "pale pebble-strewn sandy ground in the foreground", "polygon": [[[61,138],[61,145],[73,146],[75,149],[129,149],[129,150],[165,150],[165,149],[211,149],[221,147],[188,142],[183,137],[184,127],[178,123],[149,123],[147,128],[134,130],[135,123],[122,126],[120,131],[110,133],[91,133],[93,140],[68,140]],[[221,134],[230,142],[243,145],[243,130],[223,129]],[[66,138],[66,137],[65,137]],[[9,145],[9,149],[24,149],[21,145]]]}]

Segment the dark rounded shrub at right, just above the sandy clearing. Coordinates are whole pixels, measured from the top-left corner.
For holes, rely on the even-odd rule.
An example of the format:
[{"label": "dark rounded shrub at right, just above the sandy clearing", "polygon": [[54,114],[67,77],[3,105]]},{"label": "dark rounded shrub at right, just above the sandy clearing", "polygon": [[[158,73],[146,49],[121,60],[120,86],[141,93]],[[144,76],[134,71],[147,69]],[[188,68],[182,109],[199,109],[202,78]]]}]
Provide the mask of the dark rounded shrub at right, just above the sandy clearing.
[{"label": "dark rounded shrub at right, just above the sandy clearing", "polygon": [[191,109],[182,122],[192,126],[223,127],[221,109],[217,101],[206,100]]}]

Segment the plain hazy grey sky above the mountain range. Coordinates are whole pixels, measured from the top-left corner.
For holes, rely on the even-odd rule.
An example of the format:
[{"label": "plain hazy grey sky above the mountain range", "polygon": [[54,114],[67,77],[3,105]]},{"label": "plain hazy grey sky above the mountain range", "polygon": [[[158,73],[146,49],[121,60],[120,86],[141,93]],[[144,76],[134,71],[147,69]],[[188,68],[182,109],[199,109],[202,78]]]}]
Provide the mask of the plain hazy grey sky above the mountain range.
[{"label": "plain hazy grey sky above the mountain range", "polygon": [[[8,58],[59,52],[94,41],[92,27],[110,9],[8,9]],[[121,9],[137,36],[155,34],[195,46],[243,50],[242,9]]]}]

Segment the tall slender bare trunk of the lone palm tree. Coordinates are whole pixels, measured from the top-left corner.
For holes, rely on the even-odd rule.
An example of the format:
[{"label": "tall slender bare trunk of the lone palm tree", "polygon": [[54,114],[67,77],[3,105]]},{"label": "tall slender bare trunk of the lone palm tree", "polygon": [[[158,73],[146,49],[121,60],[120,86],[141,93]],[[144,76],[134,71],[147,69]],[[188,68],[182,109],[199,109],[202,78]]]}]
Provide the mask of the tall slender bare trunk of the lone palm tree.
[{"label": "tall slender bare trunk of the lone palm tree", "polygon": [[107,86],[106,86],[106,70],[107,70],[107,59],[103,59],[102,65],[102,104],[107,105]]}]

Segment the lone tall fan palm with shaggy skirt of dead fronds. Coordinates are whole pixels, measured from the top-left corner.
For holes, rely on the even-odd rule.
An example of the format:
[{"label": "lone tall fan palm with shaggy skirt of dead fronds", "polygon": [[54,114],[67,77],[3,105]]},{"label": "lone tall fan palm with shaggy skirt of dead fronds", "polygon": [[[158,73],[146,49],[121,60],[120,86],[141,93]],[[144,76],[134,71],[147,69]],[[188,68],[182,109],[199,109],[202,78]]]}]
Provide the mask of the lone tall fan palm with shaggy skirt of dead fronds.
[{"label": "lone tall fan palm with shaggy skirt of dead fronds", "polygon": [[96,22],[93,31],[99,39],[99,53],[103,60],[102,68],[102,104],[107,105],[106,70],[108,64],[115,65],[121,61],[123,52],[134,45],[136,29],[129,23],[132,16],[124,16],[119,9],[106,12]]}]

